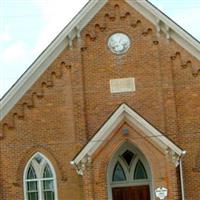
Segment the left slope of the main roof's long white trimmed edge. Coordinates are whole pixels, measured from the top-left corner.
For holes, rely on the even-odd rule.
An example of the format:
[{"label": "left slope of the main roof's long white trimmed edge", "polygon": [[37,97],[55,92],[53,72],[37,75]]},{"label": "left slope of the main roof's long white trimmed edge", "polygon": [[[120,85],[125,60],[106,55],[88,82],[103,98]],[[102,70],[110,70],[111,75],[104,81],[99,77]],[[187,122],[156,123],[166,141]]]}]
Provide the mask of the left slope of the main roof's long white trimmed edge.
[{"label": "left slope of the main roof's long white trimmed edge", "polygon": [[[72,21],[59,33],[52,43],[39,55],[33,64],[15,82],[0,100],[0,120],[13,108],[35,81],[45,72],[56,57],[78,37],[80,31],[108,0],[90,0]],[[47,59],[48,58],[48,59]]]}]

